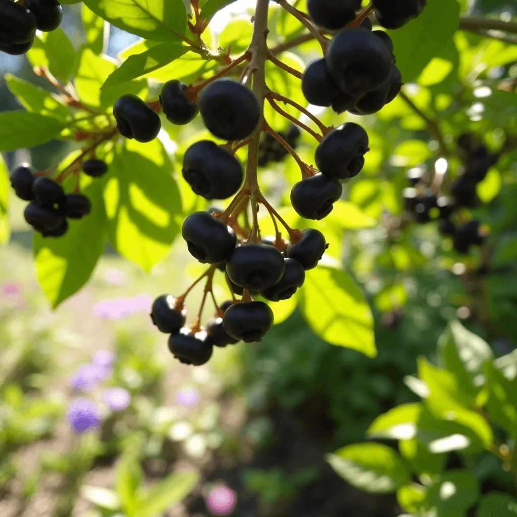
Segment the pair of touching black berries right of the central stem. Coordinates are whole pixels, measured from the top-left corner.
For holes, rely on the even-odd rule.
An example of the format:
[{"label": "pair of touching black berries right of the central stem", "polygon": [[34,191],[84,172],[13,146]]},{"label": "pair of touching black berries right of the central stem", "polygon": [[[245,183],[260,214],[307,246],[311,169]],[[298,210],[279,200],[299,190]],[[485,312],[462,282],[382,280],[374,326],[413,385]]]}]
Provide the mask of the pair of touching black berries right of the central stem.
[{"label": "pair of touching black berries right of the central stem", "polygon": [[297,214],[314,220],[328,216],[343,193],[340,181],[359,174],[368,150],[368,134],[358,124],[348,122],[328,133],[314,154],[321,172],[298,181],[291,190]]}]

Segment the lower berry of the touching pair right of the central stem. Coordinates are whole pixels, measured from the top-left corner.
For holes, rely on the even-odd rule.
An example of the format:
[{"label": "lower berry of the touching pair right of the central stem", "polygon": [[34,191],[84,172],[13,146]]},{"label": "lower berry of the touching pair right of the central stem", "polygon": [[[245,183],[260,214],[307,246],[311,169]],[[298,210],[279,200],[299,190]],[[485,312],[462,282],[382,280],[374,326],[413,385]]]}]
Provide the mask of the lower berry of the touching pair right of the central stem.
[{"label": "lower berry of the touching pair right of the central stem", "polygon": [[300,217],[319,221],[330,214],[342,193],[337,179],[319,173],[294,184],[291,204]]}]

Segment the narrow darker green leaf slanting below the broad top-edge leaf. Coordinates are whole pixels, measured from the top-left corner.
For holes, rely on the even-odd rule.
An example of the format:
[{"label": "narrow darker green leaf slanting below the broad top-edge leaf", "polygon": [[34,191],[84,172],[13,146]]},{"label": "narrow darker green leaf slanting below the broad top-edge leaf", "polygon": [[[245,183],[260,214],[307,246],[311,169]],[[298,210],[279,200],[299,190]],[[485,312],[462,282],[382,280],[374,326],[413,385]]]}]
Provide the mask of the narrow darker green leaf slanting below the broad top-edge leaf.
[{"label": "narrow darker green leaf slanting below the broad top-edge leaf", "polygon": [[142,54],[129,56],[119,68],[109,75],[102,85],[102,89],[131,81],[131,79],[158,70],[158,68],[173,62],[177,57],[183,56],[187,50],[188,48],[183,47],[180,43],[161,43]]}]

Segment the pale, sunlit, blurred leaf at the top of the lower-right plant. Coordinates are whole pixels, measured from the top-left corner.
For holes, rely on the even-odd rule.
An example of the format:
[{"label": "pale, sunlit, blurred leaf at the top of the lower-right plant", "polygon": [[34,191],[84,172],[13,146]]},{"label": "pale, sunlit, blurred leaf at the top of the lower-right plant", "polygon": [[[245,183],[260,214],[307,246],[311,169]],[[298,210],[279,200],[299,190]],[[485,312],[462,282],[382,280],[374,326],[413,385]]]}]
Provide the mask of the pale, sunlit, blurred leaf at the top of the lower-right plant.
[{"label": "pale, sunlit, blurred leaf at the top of the lower-right plant", "polygon": [[483,383],[483,364],[492,359],[492,349],[460,322],[452,321],[438,340],[438,359],[474,398]]}]

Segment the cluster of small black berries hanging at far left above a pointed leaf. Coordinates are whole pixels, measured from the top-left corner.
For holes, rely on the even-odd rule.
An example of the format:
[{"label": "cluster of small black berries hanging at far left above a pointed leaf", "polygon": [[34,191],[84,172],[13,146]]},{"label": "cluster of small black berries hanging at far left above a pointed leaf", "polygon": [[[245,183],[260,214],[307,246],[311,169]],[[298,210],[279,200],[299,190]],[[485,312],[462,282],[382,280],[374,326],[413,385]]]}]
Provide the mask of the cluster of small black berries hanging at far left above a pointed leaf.
[{"label": "cluster of small black berries hanging at far left above a pointed leaf", "polygon": [[36,177],[28,164],[12,171],[11,186],[20,199],[30,202],[25,207],[25,220],[43,237],[65,235],[67,219],[81,219],[92,211],[86,196],[65,194],[53,179]]}]

